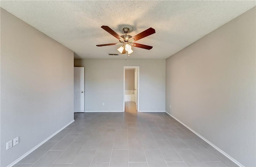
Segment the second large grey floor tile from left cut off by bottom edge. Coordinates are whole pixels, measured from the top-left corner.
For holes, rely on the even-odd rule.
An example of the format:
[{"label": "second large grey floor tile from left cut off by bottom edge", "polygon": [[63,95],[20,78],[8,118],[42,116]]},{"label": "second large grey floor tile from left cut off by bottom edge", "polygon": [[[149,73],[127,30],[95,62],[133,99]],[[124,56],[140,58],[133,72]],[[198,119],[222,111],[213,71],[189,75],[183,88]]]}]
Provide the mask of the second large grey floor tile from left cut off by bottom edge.
[{"label": "second large grey floor tile from left cut off by bottom edge", "polygon": [[72,167],[89,167],[92,158],[94,157],[96,150],[81,150],[74,162],[72,163]]}]

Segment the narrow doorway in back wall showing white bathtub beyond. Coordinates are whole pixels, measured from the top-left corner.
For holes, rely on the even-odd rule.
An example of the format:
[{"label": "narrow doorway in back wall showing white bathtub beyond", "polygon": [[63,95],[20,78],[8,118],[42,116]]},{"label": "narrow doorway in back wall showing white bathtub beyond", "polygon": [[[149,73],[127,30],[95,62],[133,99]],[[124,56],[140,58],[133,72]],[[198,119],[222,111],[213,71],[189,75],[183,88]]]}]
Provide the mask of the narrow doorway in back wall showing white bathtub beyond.
[{"label": "narrow doorway in back wall showing white bathtub beyond", "polygon": [[124,66],[124,112],[139,111],[139,73],[138,66]]}]

